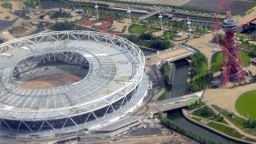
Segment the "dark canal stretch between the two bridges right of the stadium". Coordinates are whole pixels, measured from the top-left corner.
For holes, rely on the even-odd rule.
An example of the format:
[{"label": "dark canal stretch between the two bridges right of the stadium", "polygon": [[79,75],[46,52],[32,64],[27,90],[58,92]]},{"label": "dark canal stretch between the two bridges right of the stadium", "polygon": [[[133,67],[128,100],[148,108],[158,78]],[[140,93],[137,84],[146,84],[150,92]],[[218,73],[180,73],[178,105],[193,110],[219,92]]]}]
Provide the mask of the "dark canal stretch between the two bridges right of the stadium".
[{"label": "dark canal stretch between the two bridges right of the stadium", "polygon": [[174,62],[176,70],[174,72],[173,86],[170,92],[170,98],[177,98],[186,92],[186,79],[189,72],[189,63],[186,59]]}]

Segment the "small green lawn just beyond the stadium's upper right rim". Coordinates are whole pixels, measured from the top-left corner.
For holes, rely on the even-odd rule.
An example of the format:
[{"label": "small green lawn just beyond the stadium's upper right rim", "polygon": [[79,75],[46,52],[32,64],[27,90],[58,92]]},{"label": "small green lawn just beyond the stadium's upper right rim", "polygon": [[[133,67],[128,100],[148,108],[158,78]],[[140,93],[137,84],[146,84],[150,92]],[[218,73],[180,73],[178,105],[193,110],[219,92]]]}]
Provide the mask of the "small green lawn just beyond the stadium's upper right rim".
[{"label": "small green lawn just beyond the stadium's upper right rim", "polygon": [[146,26],[133,25],[129,27],[129,32],[131,34],[145,34],[145,33],[152,34],[156,31],[158,31],[158,29],[150,28]]}]

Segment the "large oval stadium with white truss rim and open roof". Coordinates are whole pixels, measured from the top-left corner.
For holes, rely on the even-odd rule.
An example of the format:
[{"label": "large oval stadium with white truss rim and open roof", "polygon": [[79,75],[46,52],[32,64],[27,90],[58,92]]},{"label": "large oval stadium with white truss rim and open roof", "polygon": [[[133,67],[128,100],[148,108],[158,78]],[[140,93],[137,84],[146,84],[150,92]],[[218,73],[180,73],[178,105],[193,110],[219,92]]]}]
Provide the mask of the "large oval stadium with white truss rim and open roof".
[{"label": "large oval stadium with white truss rim and open roof", "polygon": [[142,104],[145,59],[113,34],[54,31],[0,45],[1,134],[96,130]]}]

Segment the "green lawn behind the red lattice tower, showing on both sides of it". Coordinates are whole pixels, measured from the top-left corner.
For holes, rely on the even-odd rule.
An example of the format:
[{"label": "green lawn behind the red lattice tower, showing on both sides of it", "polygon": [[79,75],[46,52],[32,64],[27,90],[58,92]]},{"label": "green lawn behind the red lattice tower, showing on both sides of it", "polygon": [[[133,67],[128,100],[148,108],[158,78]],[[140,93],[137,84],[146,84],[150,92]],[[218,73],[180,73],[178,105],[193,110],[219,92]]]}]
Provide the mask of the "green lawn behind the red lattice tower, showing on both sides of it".
[{"label": "green lawn behind the red lattice tower, showing on both sides of it", "polygon": [[[253,55],[251,55],[250,53],[248,53],[246,51],[241,51],[240,57],[242,58],[243,66],[245,66],[245,67],[250,66],[250,58],[254,58]],[[211,58],[211,66],[210,66],[210,70],[213,73],[215,73],[221,69],[222,58],[223,58],[222,51],[213,54],[213,56]]]}]

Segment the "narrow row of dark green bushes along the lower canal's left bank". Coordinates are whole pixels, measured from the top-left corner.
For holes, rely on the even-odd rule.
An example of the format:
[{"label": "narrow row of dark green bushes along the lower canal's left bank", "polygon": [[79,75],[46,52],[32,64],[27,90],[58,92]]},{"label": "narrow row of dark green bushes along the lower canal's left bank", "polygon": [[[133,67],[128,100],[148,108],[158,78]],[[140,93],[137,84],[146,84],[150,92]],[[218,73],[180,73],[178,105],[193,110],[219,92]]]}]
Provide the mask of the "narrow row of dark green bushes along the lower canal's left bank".
[{"label": "narrow row of dark green bushes along the lower canal's left bank", "polygon": [[195,141],[198,141],[200,143],[214,143],[213,141],[209,141],[206,138],[202,137],[201,135],[194,134],[194,132],[191,130],[179,127],[174,122],[172,122],[169,118],[166,118],[166,116],[164,116],[162,112],[159,112],[158,116],[162,122],[162,125],[170,128],[171,130],[177,131],[178,133],[183,134],[189,138],[192,138]]}]

